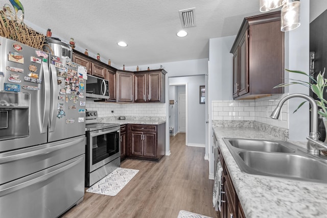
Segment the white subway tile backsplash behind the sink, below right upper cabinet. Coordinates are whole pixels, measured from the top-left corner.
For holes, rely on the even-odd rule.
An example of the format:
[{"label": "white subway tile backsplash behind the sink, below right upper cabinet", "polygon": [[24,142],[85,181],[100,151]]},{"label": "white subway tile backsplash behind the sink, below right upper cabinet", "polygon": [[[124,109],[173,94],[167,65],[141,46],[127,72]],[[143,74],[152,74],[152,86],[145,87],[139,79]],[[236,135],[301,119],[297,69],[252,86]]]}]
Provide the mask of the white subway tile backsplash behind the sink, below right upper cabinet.
[{"label": "white subway tile backsplash behind the sink, below right upper cabinet", "polygon": [[213,101],[213,120],[252,120],[263,124],[288,129],[288,102],[282,107],[278,119],[270,118],[282,94],[255,100]]}]

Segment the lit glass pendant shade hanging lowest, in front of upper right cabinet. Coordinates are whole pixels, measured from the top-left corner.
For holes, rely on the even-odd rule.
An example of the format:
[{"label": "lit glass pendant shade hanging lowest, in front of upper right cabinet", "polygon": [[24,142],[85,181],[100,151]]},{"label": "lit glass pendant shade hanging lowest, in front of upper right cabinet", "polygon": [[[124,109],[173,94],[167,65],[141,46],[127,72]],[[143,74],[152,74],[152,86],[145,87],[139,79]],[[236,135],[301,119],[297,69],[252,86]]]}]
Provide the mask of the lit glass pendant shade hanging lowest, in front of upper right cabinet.
[{"label": "lit glass pendant shade hanging lowest, in front of upper right cabinet", "polygon": [[281,11],[281,31],[290,31],[300,26],[300,1],[287,0]]}]

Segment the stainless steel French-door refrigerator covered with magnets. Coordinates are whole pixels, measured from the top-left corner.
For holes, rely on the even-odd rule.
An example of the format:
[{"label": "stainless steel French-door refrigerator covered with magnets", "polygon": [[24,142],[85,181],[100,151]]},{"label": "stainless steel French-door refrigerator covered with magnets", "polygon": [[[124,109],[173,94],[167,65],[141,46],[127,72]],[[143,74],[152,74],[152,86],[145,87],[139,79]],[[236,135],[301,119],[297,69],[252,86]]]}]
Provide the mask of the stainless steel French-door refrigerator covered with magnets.
[{"label": "stainless steel French-door refrigerator covered with magnets", "polygon": [[78,67],[0,37],[1,217],[57,217],[83,200],[86,81]]}]

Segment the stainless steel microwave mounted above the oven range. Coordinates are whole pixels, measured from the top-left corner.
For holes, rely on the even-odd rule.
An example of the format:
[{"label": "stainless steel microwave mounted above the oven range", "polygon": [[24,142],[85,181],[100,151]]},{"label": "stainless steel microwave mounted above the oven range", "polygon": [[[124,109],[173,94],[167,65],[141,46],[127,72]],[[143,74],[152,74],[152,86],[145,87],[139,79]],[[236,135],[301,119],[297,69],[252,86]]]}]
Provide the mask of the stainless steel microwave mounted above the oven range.
[{"label": "stainless steel microwave mounted above the oven range", "polygon": [[86,98],[89,99],[109,99],[108,80],[87,75]]}]

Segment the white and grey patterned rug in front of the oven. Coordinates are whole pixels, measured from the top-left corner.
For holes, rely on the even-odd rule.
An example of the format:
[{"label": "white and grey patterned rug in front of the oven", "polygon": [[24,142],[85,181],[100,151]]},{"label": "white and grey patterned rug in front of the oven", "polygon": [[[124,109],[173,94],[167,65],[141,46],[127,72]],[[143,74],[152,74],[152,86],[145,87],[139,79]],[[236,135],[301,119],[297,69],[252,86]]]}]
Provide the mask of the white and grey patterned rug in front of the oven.
[{"label": "white and grey patterned rug in front of the oven", "polygon": [[115,196],[137,174],[138,169],[118,167],[86,191],[100,195]]}]

